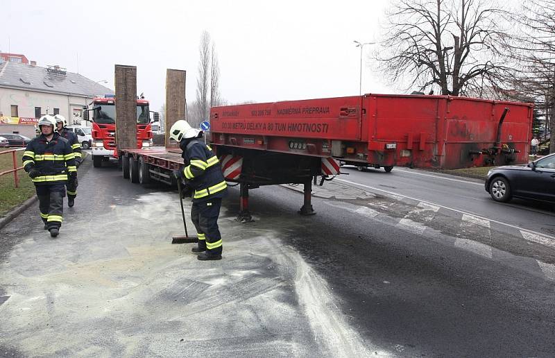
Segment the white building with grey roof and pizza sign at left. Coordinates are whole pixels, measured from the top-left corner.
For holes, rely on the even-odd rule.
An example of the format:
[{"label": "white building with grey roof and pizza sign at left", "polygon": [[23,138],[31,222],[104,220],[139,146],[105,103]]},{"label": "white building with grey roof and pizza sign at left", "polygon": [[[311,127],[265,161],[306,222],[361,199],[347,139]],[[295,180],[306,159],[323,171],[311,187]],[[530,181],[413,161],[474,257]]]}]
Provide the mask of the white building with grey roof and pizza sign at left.
[{"label": "white building with grey roof and pizza sign at left", "polygon": [[0,63],[0,133],[34,137],[44,114],[62,114],[69,124],[87,126],[83,106],[92,97],[113,94],[88,78],[57,66]]}]

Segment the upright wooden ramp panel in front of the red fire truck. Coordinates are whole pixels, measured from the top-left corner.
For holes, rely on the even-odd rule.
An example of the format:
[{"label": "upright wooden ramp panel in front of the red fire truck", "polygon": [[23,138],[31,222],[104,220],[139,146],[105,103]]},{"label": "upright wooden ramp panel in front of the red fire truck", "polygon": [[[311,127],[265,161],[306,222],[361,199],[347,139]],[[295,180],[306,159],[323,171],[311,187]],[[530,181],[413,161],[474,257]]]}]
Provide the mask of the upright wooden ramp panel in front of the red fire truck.
[{"label": "upright wooden ramp panel in front of the red fire truck", "polygon": [[116,145],[137,148],[137,67],[115,65]]}]

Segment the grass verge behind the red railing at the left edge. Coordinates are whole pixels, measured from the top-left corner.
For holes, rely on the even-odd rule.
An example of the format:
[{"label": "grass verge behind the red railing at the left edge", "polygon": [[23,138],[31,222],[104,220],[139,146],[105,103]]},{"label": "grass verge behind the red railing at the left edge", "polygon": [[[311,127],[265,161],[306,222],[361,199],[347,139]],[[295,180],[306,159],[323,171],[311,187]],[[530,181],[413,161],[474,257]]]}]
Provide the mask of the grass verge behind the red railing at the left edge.
[{"label": "grass verge behind the red railing at the left edge", "polygon": [[[8,151],[8,149],[0,149],[0,152]],[[17,165],[22,165],[22,156],[24,151],[16,152]],[[12,154],[0,153],[0,172],[13,169]],[[15,180],[13,178],[13,173],[4,174],[0,176],[0,217],[6,215],[14,207],[21,205],[31,196],[35,195],[35,185],[28,177],[25,171],[17,171],[17,176],[19,178],[19,187],[15,187]]]}]

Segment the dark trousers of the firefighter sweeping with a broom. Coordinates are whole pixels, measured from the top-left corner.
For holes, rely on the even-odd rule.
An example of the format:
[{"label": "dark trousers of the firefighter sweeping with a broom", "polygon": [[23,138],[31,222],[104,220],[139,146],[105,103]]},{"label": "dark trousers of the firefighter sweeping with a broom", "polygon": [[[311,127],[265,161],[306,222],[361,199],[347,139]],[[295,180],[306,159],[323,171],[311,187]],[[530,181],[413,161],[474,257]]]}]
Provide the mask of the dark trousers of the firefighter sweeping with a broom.
[{"label": "dark trousers of the firefighter sweeping with a broom", "polygon": [[191,221],[196,228],[198,247],[206,248],[208,255],[221,255],[221,234],[218,228],[221,198],[193,202]]}]

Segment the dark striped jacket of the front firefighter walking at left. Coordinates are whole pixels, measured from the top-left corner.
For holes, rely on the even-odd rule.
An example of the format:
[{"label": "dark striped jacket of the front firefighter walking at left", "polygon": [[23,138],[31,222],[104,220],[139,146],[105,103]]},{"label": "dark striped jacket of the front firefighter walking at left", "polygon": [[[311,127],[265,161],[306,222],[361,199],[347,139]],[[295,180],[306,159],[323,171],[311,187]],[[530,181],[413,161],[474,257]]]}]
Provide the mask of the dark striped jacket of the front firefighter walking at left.
[{"label": "dark striped jacket of the front firefighter walking at left", "polygon": [[35,185],[62,184],[67,181],[68,174],[77,174],[71,145],[56,132],[50,142],[44,135],[35,137],[27,144],[22,160],[27,173],[31,169],[39,171],[40,175],[32,179]]}]

